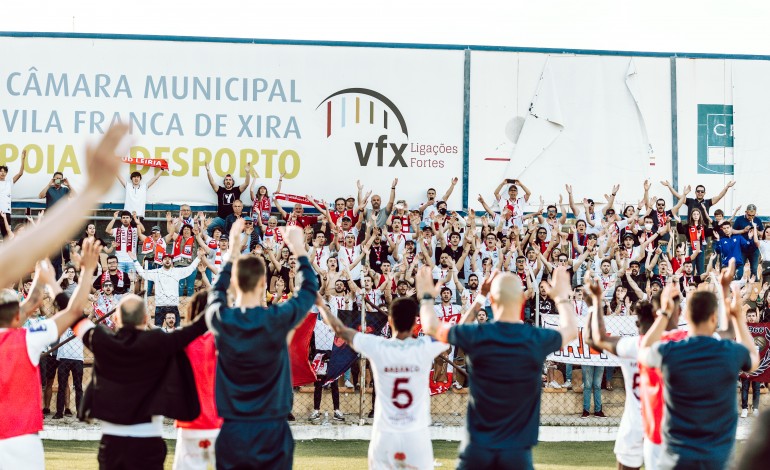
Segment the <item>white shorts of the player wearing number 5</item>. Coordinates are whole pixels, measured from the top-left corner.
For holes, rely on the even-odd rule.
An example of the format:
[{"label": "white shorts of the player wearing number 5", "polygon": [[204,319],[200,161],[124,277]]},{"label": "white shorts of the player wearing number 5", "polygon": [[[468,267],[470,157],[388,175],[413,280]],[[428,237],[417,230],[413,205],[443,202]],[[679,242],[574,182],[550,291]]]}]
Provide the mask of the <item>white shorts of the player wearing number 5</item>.
[{"label": "white shorts of the player wearing number 5", "polygon": [[427,429],[372,433],[369,469],[433,469],[433,445]]}]

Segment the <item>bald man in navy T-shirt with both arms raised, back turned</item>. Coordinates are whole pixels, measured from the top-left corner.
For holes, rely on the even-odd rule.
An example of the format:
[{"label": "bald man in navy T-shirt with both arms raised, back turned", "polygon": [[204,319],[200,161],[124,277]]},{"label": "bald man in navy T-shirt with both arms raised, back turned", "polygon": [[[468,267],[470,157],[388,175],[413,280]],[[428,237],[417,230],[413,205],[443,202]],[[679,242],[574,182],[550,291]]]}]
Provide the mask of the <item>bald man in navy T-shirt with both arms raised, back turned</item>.
[{"label": "bald man in navy T-shirt with both arms raised, back turned", "polygon": [[559,311],[558,330],[521,321],[523,288],[510,273],[492,281],[489,301],[494,321],[489,323],[439,322],[433,309],[438,288],[430,269],[420,268],[416,281],[422,331],[465,351],[471,398],[457,468],[533,468],[543,362],[577,337],[566,268],[557,268],[546,287]]}]

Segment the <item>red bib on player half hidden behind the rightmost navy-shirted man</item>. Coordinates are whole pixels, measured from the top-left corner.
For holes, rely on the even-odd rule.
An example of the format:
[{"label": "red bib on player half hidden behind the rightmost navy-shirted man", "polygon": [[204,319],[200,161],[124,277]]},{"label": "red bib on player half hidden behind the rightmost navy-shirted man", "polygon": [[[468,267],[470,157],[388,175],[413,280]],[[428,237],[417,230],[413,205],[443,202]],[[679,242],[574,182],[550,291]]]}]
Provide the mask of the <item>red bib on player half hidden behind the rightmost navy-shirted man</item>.
[{"label": "red bib on player half hidden behind the rightmost navy-shirted man", "polygon": [[[661,342],[682,341],[687,338],[689,332],[686,330],[665,331],[660,338]],[[639,363],[640,375],[640,400],[642,403],[642,424],[644,425],[644,435],[653,444],[662,442],[660,437],[660,426],[663,422],[663,375],[660,369],[647,367]]]}]

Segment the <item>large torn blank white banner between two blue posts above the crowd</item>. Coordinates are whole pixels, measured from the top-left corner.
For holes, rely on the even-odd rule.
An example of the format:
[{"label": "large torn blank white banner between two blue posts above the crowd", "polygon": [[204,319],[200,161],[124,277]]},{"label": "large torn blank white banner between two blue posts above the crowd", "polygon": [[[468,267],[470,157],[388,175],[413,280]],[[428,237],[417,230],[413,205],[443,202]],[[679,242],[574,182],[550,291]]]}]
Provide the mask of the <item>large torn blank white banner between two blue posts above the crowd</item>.
[{"label": "large torn blank white banner between two blue posts above the crowd", "polygon": [[645,178],[670,178],[668,59],[474,51],[470,86],[474,208],[503,178],[546,203],[566,202],[565,183],[597,203],[620,184],[622,204],[641,199]]}]

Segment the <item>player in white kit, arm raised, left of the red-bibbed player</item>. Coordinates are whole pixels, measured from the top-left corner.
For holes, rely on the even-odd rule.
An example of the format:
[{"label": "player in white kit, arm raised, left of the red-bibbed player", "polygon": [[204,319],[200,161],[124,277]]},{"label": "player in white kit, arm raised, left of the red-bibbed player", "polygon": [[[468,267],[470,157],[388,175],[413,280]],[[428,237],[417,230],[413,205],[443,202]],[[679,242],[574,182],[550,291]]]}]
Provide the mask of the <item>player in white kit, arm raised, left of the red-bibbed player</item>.
[{"label": "player in white kit, arm raised, left of the red-bibbed player", "polygon": [[[623,382],[626,386],[626,406],[623,409],[623,417],[620,419],[618,435],[615,439],[615,457],[619,470],[635,470],[641,468],[644,463],[644,430],[642,427],[642,403],[639,399],[639,343],[641,336],[607,336],[604,328],[604,315],[597,314],[601,310],[601,302],[604,299],[601,285],[592,279],[588,287],[591,292],[593,305],[589,313],[588,322],[591,328],[588,330],[586,343],[596,349],[614,354],[620,360],[620,368],[623,371]],[[650,329],[655,316],[652,312],[652,304],[641,301],[635,307],[639,334],[644,335]]]}]

